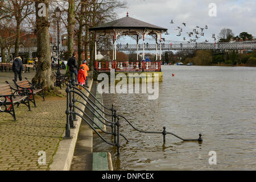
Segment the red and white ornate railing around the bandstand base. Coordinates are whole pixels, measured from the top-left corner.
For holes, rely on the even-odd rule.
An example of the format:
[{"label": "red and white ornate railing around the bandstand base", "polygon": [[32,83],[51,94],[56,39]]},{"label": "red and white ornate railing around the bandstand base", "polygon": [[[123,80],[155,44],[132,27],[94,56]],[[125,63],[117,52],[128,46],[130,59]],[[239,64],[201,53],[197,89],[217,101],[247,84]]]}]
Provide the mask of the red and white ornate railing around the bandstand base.
[{"label": "red and white ornate railing around the bandstand base", "polygon": [[97,72],[160,72],[161,61],[95,61]]}]

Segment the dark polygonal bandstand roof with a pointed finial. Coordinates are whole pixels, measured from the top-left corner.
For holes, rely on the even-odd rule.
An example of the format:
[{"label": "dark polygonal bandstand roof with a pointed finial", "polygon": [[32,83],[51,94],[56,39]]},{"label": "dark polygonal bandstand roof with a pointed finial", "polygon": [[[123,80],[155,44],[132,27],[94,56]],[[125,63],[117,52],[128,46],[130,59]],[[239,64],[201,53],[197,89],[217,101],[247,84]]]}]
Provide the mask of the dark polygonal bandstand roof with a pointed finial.
[{"label": "dark polygonal bandstand roof with a pointed finial", "polygon": [[142,22],[141,20],[134,19],[127,16],[121,19],[114,20],[113,22],[102,24],[101,26],[96,26],[89,28],[90,31],[99,31],[99,32],[109,32],[113,30],[148,30],[148,31],[158,31],[165,32],[167,28],[155,26],[154,24]]}]

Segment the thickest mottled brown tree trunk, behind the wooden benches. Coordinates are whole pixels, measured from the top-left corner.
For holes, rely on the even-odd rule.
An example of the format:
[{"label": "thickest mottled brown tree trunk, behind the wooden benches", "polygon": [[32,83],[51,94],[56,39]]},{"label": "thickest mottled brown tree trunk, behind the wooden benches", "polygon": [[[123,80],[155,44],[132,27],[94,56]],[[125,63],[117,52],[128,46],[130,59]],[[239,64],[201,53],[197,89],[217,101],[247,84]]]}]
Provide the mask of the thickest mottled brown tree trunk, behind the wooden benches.
[{"label": "thickest mottled brown tree trunk, behind the wooden benches", "polygon": [[[46,16],[38,16],[38,4],[46,5]],[[44,90],[52,90],[54,88],[54,75],[51,69],[51,47],[49,42],[49,0],[39,0],[35,2],[36,6],[36,38],[37,38],[37,57],[38,65],[33,83],[43,84]]]}]

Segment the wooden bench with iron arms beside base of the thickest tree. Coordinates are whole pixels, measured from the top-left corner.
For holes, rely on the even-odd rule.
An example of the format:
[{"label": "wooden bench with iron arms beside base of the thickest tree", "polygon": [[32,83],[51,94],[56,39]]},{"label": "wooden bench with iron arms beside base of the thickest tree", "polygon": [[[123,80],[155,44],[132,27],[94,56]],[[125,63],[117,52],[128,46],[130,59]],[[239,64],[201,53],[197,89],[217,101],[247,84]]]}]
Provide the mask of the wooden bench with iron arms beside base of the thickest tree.
[{"label": "wooden bench with iron arms beside base of the thickest tree", "polygon": [[23,81],[15,81],[13,80],[15,86],[17,89],[28,89],[28,99],[33,102],[34,106],[36,107],[35,103],[35,94],[38,94],[39,96],[43,97],[44,100],[44,90],[42,88],[42,84],[32,84],[25,78],[26,80]]}]

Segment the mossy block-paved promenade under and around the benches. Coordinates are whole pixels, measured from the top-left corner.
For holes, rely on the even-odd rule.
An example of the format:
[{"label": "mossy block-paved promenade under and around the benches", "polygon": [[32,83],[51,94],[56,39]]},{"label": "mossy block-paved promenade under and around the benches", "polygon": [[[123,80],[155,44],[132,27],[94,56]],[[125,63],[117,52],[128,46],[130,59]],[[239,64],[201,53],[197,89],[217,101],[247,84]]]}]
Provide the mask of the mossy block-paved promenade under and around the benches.
[{"label": "mossy block-paved promenade under and around the benches", "polygon": [[[35,72],[23,73],[29,80]],[[0,72],[0,85],[12,82],[12,72]],[[65,93],[65,88],[60,90]],[[36,97],[37,107],[15,106],[18,119],[0,113],[0,170],[48,170],[65,130],[66,97]],[[46,152],[46,164],[38,163],[39,152]]]}]

